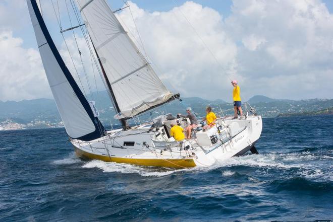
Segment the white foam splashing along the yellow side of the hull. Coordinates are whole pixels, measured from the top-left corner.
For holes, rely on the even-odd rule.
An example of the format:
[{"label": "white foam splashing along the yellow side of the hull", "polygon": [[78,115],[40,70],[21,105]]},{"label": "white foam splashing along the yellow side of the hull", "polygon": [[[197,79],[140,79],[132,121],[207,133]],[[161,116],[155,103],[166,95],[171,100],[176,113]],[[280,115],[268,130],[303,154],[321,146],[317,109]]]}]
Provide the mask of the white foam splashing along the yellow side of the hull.
[{"label": "white foam splashing along the yellow side of the hull", "polygon": [[114,162],[104,162],[99,160],[90,161],[82,166],[83,168],[99,168],[103,170],[103,172],[121,172],[121,173],[136,173],[144,177],[154,176],[154,177],[162,177],[169,174],[173,174],[180,171],[189,171],[190,169],[153,169],[151,167],[141,167],[137,165],[131,164],[120,164]]}]

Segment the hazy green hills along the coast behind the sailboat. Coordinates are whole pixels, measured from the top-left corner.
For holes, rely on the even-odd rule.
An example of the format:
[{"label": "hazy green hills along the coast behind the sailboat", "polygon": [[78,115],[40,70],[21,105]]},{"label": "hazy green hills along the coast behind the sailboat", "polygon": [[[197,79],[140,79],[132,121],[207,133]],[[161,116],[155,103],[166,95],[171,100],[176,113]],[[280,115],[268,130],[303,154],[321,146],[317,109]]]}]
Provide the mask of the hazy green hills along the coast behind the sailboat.
[{"label": "hazy green hills along the coast behind the sailboat", "polygon": [[[106,91],[94,92],[86,96],[89,101],[96,101],[96,107],[100,113],[99,118],[104,124],[118,124],[118,120],[114,119],[115,109],[109,99]],[[265,96],[254,96],[249,103],[256,109],[257,113],[263,117],[275,117],[282,115],[299,115],[299,113],[311,113],[314,115],[318,110],[325,110],[333,107],[333,100],[327,99],[311,99],[311,100],[278,100]],[[182,98],[182,102],[178,100],[160,106],[156,109],[146,112],[139,116],[140,121],[155,118],[158,115],[173,113],[186,113],[187,107],[198,116],[205,115],[205,108],[210,105],[215,113],[224,111],[225,115],[233,115],[233,104],[223,100],[205,100],[199,97]],[[246,110],[246,108],[243,108]],[[283,113],[283,114],[281,114]],[[59,126],[61,118],[57,110],[57,106],[52,99],[35,99],[15,101],[0,101],[0,128],[2,125],[9,123],[26,124],[29,127],[35,126]]]}]

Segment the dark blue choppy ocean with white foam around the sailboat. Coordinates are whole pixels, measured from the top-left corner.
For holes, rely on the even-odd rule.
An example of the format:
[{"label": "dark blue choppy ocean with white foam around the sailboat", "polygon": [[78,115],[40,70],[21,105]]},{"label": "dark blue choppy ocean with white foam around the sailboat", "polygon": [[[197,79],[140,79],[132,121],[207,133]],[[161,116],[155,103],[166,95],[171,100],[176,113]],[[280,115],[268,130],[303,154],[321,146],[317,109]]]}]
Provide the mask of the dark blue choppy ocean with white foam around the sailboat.
[{"label": "dark blue choppy ocean with white foam around the sailboat", "polygon": [[259,155],[186,170],[81,161],[62,128],[0,131],[0,221],[330,220],[332,128],[264,118]]}]

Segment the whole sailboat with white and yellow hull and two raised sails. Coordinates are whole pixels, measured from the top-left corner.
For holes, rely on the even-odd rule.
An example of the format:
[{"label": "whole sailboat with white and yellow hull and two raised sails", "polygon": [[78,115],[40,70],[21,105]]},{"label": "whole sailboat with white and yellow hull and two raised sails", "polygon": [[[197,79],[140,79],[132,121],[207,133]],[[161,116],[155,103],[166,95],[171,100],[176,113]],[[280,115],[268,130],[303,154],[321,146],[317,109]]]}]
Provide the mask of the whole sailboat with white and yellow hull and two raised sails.
[{"label": "whole sailboat with white and yellow hull and two raised sails", "polygon": [[143,166],[190,168],[211,166],[249,150],[262,130],[255,112],[245,119],[219,117],[214,127],[198,127],[193,139],[178,142],[171,123],[185,128],[188,118],[162,115],[150,123],[130,127],[128,120],[180,98],[160,81],[105,0],[76,0],[104,83],[122,128],[105,130],[67,68],[44,23],[36,0],[27,0],[47,80],[66,132],[78,157]]}]

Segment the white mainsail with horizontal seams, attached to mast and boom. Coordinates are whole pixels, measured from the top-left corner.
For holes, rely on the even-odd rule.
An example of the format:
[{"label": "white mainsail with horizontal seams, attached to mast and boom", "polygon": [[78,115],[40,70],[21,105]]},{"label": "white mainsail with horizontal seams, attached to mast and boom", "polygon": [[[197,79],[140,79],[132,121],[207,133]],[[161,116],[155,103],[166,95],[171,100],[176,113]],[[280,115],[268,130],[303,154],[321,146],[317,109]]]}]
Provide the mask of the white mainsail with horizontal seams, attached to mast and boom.
[{"label": "white mainsail with horizontal seams, attached to mast and boom", "polygon": [[120,108],[130,118],[172,99],[104,0],[77,0],[78,8]]}]

